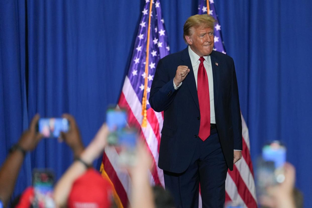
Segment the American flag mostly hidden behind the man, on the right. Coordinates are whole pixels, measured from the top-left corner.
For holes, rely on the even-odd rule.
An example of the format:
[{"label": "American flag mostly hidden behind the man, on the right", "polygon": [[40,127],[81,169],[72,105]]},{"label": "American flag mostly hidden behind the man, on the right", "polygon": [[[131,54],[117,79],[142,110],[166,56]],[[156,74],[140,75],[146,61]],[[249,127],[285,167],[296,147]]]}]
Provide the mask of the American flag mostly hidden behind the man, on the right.
[{"label": "American flag mostly hidden behind the man, on the right", "polygon": [[[217,20],[214,28],[213,50],[226,54],[221,36],[221,26],[214,7],[214,0],[199,0],[198,14],[207,13]],[[227,172],[227,180],[225,181],[226,201],[234,201],[242,204],[244,207],[254,208],[257,207],[256,188],[250,157],[249,133],[243,115],[241,115],[241,121],[243,135],[242,158],[234,164],[233,171],[228,170]]]}]

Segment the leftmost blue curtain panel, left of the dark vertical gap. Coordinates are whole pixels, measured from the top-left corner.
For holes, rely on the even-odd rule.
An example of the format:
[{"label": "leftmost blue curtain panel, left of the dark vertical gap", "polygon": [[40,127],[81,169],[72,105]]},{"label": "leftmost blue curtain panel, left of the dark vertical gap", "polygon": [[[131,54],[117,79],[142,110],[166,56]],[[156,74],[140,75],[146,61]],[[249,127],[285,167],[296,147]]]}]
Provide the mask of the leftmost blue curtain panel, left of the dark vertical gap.
[{"label": "leftmost blue curtain panel, left of the dark vertical gap", "polygon": [[[28,128],[26,97],[26,25],[23,1],[0,2],[0,163]],[[13,198],[31,184],[27,155],[17,178]]]}]

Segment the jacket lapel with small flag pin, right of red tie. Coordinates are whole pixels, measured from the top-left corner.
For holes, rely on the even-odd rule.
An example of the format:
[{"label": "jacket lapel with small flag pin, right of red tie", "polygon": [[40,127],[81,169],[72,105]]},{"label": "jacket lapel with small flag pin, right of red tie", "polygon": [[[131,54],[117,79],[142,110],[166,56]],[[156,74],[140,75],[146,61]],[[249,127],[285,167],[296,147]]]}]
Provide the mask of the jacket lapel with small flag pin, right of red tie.
[{"label": "jacket lapel with small flag pin, right of red tie", "polygon": [[212,51],[212,53],[210,54],[210,58],[211,58],[212,76],[213,76],[213,99],[214,99],[214,105],[216,109],[218,95],[219,95],[219,86],[220,86],[221,62],[216,58],[214,51]]}]

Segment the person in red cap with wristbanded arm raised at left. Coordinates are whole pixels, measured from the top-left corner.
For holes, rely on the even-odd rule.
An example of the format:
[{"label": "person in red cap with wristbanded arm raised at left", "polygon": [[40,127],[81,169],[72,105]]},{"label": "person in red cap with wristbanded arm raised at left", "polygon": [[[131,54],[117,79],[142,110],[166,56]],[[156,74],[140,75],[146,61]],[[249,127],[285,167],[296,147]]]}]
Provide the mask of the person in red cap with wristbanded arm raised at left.
[{"label": "person in red cap with wristbanded arm raised at left", "polygon": [[112,185],[99,172],[90,169],[105,145],[109,131],[104,124],[87,148],[67,169],[54,189],[54,201],[58,207],[110,207]]}]

